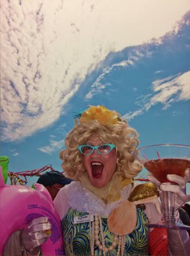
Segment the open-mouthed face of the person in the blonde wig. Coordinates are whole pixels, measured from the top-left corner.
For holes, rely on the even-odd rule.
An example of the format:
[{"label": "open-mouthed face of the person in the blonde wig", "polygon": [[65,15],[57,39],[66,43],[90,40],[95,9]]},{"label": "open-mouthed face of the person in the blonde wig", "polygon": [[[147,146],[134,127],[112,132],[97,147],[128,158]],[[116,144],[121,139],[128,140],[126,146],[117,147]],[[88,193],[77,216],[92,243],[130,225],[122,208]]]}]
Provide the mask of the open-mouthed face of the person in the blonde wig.
[{"label": "open-mouthed face of the person in the blonde wig", "polygon": [[[97,137],[90,139],[86,143],[86,145],[91,146],[98,146],[101,144],[105,143]],[[112,179],[116,169],[116,160],[116,148],[107,155],[98,154],[96,150],[94,150],[92,155],[83,155],[83,163],[94,186],[104,187]]]}]

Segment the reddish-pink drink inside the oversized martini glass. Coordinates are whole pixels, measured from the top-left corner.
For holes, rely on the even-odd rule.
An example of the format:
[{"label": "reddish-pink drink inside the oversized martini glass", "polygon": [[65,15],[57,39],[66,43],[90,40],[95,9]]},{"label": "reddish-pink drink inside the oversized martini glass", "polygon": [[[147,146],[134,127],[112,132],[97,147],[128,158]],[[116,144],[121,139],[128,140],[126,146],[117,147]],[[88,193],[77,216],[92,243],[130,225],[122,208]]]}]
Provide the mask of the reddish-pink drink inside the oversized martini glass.
[{"label": "reddish-pink drink inside the oversized martini glass", "polygon": [[161,183],[170,182],[167,174],[176,174],[184,177],[186,168],[190,168],[190,160],[178,158],[160,158],[149,160],[144,167]]}]

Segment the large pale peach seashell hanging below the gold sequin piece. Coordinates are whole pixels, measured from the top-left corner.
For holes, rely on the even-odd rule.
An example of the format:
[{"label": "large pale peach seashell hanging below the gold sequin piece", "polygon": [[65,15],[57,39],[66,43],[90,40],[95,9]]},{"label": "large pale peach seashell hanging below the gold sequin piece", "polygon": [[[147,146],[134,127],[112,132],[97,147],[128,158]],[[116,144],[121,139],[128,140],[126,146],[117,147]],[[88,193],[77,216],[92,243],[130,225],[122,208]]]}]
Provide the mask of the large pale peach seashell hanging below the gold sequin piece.
[{"label": "large pale peach seashell hanging below the gold sequin piece", "polygon": [[134,202],[125,200],[116,207],[107,219],[107,225],[115,234],[129,234],[137,224],[137,210]]}]

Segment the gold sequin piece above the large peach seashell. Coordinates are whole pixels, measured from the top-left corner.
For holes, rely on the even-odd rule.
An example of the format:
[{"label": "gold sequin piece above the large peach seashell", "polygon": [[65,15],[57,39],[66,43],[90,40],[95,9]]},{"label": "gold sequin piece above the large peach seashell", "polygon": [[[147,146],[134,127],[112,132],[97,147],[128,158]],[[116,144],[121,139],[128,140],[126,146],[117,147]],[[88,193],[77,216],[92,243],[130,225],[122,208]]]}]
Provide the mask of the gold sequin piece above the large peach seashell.
[{"label": "gold sequin piece above the large peach seashell", "polygon": [[128,201],[134,202],[139,201],[152,196],[159,197],[157,188],[151,182],[139,184],[133,188],[128,198]]}]

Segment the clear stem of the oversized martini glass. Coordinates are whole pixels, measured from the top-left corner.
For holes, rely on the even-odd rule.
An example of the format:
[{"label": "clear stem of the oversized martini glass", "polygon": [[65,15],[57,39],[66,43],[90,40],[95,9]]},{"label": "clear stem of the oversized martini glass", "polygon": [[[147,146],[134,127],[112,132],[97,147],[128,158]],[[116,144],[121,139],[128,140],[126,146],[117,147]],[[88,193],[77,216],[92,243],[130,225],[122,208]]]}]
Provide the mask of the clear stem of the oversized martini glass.
[{"label": "clear stem of the oversized martini glass", "polygon": [[175,194],[171,191],[162,192],[162,210],[164,220],[167,222],[175,222],[174,218],[174,202]]}]

